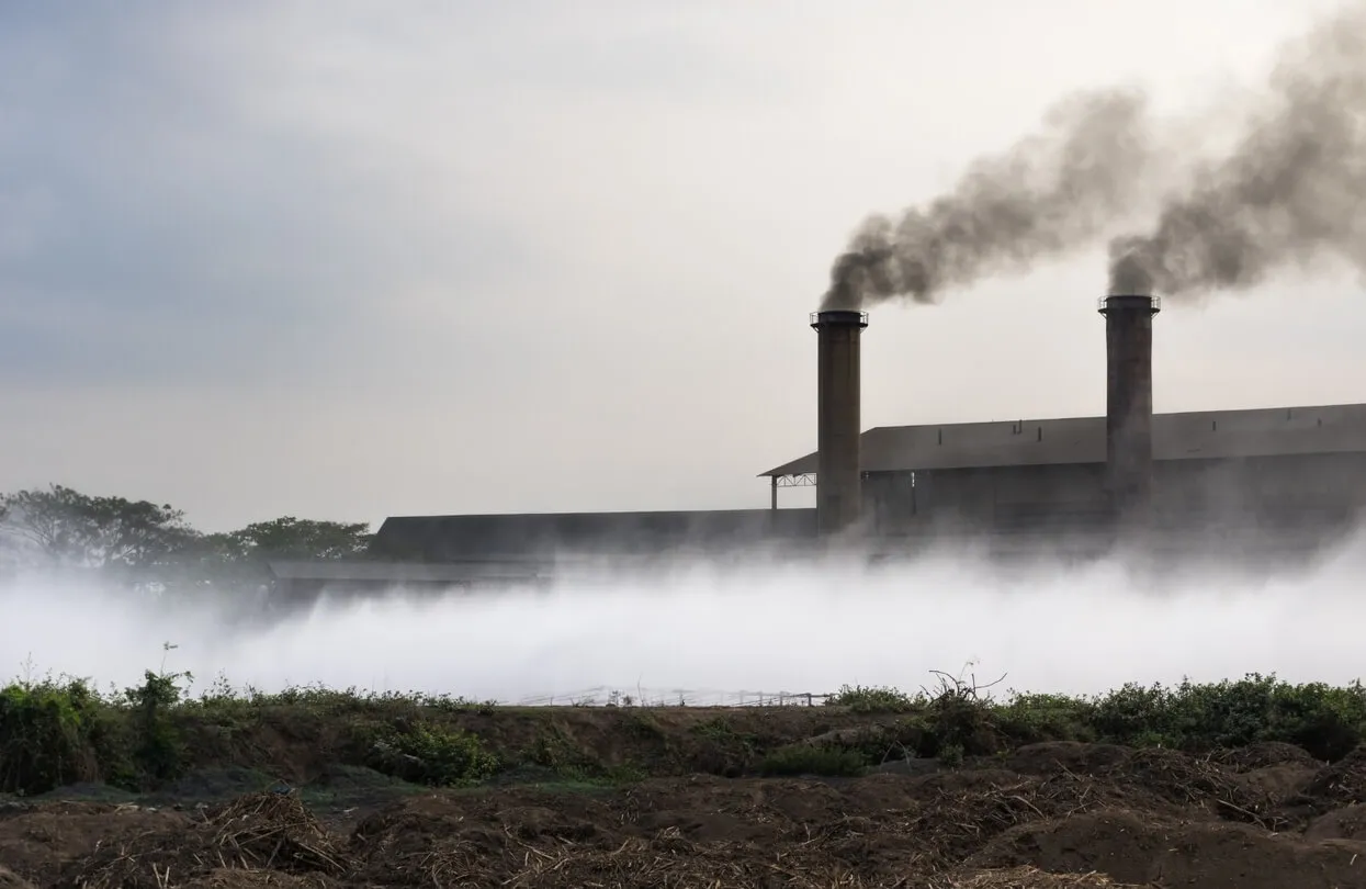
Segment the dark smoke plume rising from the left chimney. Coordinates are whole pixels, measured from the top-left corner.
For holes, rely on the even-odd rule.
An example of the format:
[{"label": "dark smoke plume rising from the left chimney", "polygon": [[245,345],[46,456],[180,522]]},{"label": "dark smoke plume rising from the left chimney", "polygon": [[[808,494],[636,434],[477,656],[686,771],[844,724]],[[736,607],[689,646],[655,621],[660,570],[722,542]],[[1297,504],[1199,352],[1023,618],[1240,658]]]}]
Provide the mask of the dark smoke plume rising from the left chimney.
[{"label": "dark smoke plume rising from the left chimney", "polygon": [[1153,158],[1146,111],[1135,90],[1075,96],[1041,132],[975,161],[951,194],[897,220],[869,218],[836,259],[821,307],[929,303],[945,287],[1094,242],[1131,209]]}]

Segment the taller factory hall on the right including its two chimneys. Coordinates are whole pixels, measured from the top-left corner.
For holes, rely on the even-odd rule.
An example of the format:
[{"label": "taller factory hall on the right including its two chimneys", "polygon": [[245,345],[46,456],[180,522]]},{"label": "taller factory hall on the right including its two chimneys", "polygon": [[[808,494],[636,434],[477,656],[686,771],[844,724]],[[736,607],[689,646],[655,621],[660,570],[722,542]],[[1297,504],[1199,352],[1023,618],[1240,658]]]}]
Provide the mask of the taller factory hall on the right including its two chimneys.
[{"label": "taller factory hall on the right including its two chimneys", "polygon": [[870,537],[923,538],[1134,526],[1314,533],[1344,526],[1366,505],[1366,406],[1154,415],[1161,300],[1111,295],[1097,310],[1105,318],[1105,415],[869,432],[858,427],[858,335],[867,315],[813,315],[820,444],[762,472],[773,508],[780,488],[814,483],[822,534],[856,526]]}]

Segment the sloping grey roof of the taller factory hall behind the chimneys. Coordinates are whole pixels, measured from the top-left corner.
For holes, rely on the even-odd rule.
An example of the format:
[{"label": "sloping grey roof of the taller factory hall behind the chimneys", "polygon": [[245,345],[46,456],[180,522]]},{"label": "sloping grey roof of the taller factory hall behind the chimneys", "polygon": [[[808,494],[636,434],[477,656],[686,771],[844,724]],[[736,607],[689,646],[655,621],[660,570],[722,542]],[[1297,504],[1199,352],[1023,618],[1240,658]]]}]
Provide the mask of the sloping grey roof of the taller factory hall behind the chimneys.
[{"label": "sloping grey roof of the taller factory hall behind the chimneys", "polygon": [[[979,468],[1105,462],[1105,418],[878,426],[861,438],[862,470]],[[1366,451],[1366,404],[1190,411],[1153,417],[1157,460]],[[816,452],[759,472],[816,472]]]}]

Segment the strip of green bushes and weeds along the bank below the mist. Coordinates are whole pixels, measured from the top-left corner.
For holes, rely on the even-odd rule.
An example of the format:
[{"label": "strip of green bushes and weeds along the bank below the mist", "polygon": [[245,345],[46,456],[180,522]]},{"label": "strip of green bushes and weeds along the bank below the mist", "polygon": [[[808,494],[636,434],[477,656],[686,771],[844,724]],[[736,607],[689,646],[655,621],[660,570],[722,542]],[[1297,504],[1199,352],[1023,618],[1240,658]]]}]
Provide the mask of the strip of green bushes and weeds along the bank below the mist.
[{"label": "strip of green bushes and weeds along the bank below the mist", "polygon": [[1284,743],[1336,761],[1366,737],[1361,684],[1296,686],[1259,675],[1124,686],[1090,698],[994,698],[941,675],[934,691],[850,687],[829,706],[723,713],[501,707],[321,687],[265,694],[223,680],[191,695],[191,683],[163,665],[117,692],[70,677],[0,688],[0,793],[108,785],[164,795],[225,773],[302,787],[343,766],[425,787],[605,787],[697,772],[847,776],[906,758],[956,766],[1059,740],[1197,754]]}]

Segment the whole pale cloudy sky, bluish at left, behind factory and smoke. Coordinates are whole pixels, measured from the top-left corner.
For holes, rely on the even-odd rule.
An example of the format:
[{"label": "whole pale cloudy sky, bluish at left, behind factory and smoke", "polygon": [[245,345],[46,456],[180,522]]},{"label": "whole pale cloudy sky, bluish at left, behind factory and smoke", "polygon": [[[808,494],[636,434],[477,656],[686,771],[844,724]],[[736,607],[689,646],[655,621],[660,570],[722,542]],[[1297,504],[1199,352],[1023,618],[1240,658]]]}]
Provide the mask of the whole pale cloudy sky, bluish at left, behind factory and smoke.
[{"label": "whole pale cloudy sky, bluish at left, behind factory and smoke", "polygon": [[[0,489],[765,505],[866,214],[1076,89],[1217,108],[1330,5],[0,4]],[[865,425],[1101,412],[1104,265],[880,307]],[[1171,309],[1157,410],[1366,400],[1363,335],[1346,273]]]}]

